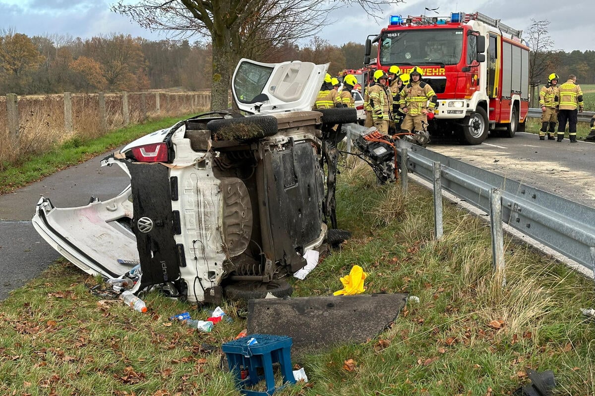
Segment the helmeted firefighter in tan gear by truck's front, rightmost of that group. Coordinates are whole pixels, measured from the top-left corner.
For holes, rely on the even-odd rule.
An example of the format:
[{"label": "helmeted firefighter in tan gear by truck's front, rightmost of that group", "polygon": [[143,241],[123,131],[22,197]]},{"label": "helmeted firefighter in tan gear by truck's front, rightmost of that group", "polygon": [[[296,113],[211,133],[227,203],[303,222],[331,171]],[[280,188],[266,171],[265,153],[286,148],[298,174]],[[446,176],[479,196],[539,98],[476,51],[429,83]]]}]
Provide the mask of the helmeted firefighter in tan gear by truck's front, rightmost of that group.
[{"label": "helmeted firefighter in tan gear by truck's front, rightmost of that group", "polygon": [[424,123],[428,122],[427,114],[433,113],[438,103],[438,97],[430,84],[422,81],[423,75],[422,69],[414,66],[409,72],[409,84],[400,93],[400,109],[405,113],[401,129],[408,132],[422,131]]}]

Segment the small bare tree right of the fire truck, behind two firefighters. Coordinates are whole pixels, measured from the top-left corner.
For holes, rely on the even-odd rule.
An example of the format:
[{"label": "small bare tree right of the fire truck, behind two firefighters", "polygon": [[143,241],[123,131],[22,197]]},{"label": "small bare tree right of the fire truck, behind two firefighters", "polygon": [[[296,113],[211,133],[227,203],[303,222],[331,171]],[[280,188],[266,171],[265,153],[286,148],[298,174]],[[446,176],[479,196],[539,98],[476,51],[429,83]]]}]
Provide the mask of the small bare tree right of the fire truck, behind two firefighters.
[{"label": "small bare tree right of the fire truck, behind two firefighters", "polygon": [[544,73],[551,73],[558,64],[558,56],[554,52],[554,41],[550,37],[548,27],[550,21],[537,21],[531,18],[531,26],[527,30],[527,45],[531,49],[529,59],[529,80],[537,83]]}]

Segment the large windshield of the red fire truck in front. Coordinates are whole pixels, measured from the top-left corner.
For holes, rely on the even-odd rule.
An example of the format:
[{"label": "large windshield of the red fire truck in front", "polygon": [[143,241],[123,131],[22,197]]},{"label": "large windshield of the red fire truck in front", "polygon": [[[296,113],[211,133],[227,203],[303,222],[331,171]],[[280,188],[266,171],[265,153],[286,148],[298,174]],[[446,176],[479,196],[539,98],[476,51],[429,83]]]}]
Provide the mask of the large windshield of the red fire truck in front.
[{"label": "large windshield of the red fire truck in front", "polygon": [[380,39],[380,64],[456,65],[463,49],[462,29],[387,31]]}]

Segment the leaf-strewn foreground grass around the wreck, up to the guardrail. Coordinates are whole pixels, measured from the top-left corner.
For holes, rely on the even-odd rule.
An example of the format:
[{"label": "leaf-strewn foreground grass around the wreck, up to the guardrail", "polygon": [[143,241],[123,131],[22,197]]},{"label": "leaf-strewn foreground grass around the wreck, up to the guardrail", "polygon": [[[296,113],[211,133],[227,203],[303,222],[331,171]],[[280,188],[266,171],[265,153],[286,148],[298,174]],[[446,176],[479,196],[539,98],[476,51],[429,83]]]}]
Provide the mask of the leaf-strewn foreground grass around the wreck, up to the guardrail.
[{"label": "leaf-strewn foreground grass around the wreck, up to the guardrail", "polygon": [[[595,394],[595,322],[578,310],[593,305],[592,281],[507,238],[508,283],[495,286],[487,223],[446,203],[437,241],[431,192],[377,186],[360,162],[342,169],[337,213],[352,239],[292,280],[294,295],[332,293],[358,264],[365,293],[420,301],[367,343],[293,356],[309,384],[276,395],[506,395],[528,368],[554,370],[554,394]],[[143,315],[94,296],[95,283],[62,261],[0,303],[0,394],[239,395],[206,344],[245,327],[242,306],[226,302],[233,322],[200,333],[168,320],[206,318],[197,307],[149,293]]]}]

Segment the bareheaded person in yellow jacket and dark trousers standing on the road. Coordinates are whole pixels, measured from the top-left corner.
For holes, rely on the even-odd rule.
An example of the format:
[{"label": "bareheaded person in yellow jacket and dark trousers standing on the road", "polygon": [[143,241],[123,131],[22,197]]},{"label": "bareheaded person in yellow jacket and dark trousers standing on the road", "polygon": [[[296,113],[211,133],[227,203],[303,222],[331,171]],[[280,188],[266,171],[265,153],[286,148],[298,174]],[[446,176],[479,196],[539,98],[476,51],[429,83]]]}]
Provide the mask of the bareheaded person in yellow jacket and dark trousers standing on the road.
[{"label": "bareheaded person in yellow jacket and dark trousers standing on the road", "polygon": [[[568,121],[568,137],[571,143],[577,142],[577,114],[583,111],[583,91],[577,84],[577,76],[571,74],[568,81],[560,85],[558,110],[558,141],[564,140],[564,130]],[[578,111],[577,111],[578,108]]]}]

